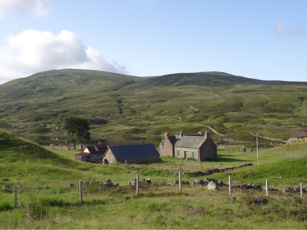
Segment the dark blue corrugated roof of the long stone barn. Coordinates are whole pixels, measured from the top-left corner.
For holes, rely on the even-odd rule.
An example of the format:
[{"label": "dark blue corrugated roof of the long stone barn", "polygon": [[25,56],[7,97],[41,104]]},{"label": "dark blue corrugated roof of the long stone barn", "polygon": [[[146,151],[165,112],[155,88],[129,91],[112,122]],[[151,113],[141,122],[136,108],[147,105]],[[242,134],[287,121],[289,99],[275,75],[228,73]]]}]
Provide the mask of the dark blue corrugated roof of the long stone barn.
[{"label": "dark blue corrugated roof of the long stone barn", "polygon": [[159,156],[153,144],[131,144],[131,145],[111,145],[109,146],[116,160]]}]

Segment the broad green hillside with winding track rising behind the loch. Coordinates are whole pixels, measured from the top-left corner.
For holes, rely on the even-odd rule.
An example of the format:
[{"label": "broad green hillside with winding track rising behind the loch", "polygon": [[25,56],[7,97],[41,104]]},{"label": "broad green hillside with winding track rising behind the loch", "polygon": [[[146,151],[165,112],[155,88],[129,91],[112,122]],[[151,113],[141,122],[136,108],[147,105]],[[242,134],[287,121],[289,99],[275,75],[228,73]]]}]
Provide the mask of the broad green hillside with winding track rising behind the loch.
[{"label": "broad green hillside with winding track rising behind the loch", "polygon": [[[307,82],[223,72],[141,78],[63,69],[6,82],[0,92],[0,128],[17,134],[56,134],[54,120],[69,112],[92,119],[91,133],[99,136],[157,136],[180,129],[189,134],[206,126],[221,134],[213,137],[246,145],[255,143],[253,135],[277,140],[307,136]],[[111,119],[116,113],[124,117]],[[101,119],[108,124],[100,125]]]}]

